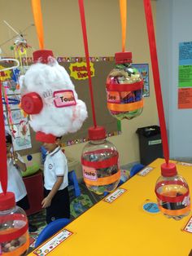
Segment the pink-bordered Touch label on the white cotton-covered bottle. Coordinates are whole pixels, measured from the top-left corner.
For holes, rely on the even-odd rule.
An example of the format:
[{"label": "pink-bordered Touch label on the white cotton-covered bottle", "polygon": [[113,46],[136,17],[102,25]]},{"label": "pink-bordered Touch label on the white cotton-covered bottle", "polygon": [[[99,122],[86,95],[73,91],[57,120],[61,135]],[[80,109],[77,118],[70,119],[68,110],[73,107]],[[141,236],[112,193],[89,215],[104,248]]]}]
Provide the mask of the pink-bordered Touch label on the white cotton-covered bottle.
[{"label": "pink-bordered Touch label on the white cotton-covered bottle", "polygon": [[54,104],[56,108],[64,108],[76,105],[76,99],[72,90],[57,90],[54,92]]}]

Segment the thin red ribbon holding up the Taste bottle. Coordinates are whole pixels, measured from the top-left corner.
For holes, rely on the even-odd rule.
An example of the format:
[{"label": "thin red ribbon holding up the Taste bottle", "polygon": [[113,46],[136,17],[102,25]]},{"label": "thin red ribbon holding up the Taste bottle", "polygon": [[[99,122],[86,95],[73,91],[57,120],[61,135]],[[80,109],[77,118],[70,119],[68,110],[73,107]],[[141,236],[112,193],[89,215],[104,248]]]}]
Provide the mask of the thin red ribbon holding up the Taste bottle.
[{"label": "thin red ribbon holding up the Taste bottle", "polygon": [[96,117],[95,117],[95,110],[94,110],[94,93],[93,93],[93,86],[92,86],[91,74],[90,74],[89,48],[88,48],[86,23],[85,23],[84,3],[83,3],[83,0],[78,0],[78,2],[79,2],[80,15],[81,15],[81,27],[82,27],[84,47],[85,47],[85,59],[86,59],[87,73],[88,73],[88,79],[89,79],[89,93],[90,93],[90,99],[91,99],[93,121],[94,121],[94,127],[97,127]]}]

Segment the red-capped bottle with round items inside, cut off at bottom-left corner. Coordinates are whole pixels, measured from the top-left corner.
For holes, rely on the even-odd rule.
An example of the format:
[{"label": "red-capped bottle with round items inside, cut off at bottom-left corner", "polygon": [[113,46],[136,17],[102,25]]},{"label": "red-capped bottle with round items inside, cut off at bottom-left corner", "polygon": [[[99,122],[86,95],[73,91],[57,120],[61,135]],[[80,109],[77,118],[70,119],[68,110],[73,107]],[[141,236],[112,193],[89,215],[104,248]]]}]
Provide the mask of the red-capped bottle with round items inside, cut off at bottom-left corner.
[{"label": "red-capped bottle with round items inside, cut off at bottom-left corner", "polygon": [[29,246],[28,218],[15,205],[15,195],[0,193],[0,255],[26,255]]}]

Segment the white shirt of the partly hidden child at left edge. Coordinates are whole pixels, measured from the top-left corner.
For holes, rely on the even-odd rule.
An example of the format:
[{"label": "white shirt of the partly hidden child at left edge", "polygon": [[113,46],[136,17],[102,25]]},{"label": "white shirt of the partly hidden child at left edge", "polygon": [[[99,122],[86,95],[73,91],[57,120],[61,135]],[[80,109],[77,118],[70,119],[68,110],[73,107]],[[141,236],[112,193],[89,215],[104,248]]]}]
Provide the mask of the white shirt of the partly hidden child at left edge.
[{"label": "white shirt of the partly hidden child at left edge", "polygon": [[[17,152],[18,159],[24,163],[22,157]],[[8,182],[7,182],[7,192],[14,192],[15,201],[20,201],[27,195],[26,188],[24,186],[24,181],[22,179],[20,170],[16,168],[13,164],[13,160],[11,158],[7,158],[7,174],[8,174]],[[0,192],[2,193],[2,185],[0,184]]]}]

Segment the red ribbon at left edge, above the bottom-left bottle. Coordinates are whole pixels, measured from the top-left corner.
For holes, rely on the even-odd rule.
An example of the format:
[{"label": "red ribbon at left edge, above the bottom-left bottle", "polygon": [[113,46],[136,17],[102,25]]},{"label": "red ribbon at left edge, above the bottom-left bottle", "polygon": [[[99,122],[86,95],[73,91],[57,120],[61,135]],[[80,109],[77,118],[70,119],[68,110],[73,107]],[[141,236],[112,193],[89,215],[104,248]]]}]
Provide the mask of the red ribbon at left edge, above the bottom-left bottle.
[{"label": "red ribbon at left edge, above the bottom-left bottle", "polygon": [[7,192],[7,145],[5,135],[5,123],[2,108],[2,83],[0,82],[0,142],[1,142],[1,157],[0,157],[0,181],[2,184],[2,192]]}]

